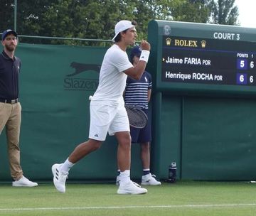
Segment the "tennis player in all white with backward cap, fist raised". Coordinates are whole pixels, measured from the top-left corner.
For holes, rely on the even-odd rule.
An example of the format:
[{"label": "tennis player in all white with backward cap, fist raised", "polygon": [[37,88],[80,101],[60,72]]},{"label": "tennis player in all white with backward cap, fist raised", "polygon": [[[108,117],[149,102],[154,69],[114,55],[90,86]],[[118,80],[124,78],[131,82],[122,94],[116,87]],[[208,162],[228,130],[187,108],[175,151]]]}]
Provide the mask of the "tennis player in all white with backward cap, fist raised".
[{"label": "tennis player in all white with backward cap, fist raised", "polygon": [[114,45],[105,53],[100,69],[99,85],[90,102],[89,139],[78,145],[64,163],[55,163],[52,166],[53,183],[60,193],[65,193],[65,181],[70,168],[87,154],[100,148],[107,133],[110,136],[114,135],[118,142],[117,161],[121,173],[117,193],[147,193],[145,188],[141,188],[130,179],[131,136],[122,96],[127,75],[139,80],[146,68],[150,53],[150,44],[142,41],[142,54],[139,63],[133,66],[129,62],[126,49],[136,42],[136,25],[135,21],[125,20],[119,21],[115,25],[115,36],[112,39]]}]

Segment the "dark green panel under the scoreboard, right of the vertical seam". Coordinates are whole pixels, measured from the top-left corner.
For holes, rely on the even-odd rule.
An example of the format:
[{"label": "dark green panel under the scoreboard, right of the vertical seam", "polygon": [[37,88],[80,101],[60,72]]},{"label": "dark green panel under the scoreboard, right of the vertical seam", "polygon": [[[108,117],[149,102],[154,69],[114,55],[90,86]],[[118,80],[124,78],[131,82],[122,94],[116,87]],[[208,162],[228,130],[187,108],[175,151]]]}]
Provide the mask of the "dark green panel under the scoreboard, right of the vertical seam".
[{"label": "dark green panel under the scoreboard, right of the vertical seam", "polygon": [[254,99],[186,98],[182,178],[256,178]]}]

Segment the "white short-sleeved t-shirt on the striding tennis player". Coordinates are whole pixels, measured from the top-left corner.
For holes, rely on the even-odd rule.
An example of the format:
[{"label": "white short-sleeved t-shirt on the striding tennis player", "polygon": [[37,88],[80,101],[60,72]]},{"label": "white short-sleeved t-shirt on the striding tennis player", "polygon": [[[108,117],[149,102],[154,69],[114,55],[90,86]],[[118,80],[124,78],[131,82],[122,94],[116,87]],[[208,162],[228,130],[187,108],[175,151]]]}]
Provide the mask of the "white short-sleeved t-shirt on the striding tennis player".
[{"label": "white short-sleeved t-shirt on the striding tennis player", "polygon": [[99,85],[92,102],[95,104],[109,104],[117,107],[123,102],[123,92],[126,85],[127,75],[124,70],[132,68],[132,63],[126,52],[114,44],[105,53],[100,68]]}]

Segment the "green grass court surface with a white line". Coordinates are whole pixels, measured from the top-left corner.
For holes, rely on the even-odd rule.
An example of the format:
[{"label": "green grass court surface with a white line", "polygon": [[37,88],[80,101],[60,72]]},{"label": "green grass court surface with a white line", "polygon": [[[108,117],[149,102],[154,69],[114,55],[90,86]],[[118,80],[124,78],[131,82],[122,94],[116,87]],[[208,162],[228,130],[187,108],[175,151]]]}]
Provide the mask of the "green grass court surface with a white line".
[{"label": "green grass court surface with a white line", "polygon": [[255,216],[256,184],[178,181],[146,186],[146,195],[117,195],[114,183],[67,183],[58,193],[53,183],[36,188],[0,184],[0,215],[218,215]]}]

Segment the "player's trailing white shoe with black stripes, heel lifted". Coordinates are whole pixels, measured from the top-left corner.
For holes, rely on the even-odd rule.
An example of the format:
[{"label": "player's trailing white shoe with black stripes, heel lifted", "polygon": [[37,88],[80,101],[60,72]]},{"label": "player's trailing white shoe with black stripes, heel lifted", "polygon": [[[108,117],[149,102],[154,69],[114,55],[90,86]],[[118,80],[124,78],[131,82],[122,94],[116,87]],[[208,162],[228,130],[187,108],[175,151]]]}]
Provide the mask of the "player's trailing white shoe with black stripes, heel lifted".
[{"label": "player's trailing white shoe with black stripes, heel lifted", "polygon": [[65,181],[68,178],[68,172],[60,172],[60,166],[62,163],[55,163],[52,166],[53,183],[60,193],[65,193]]}]

